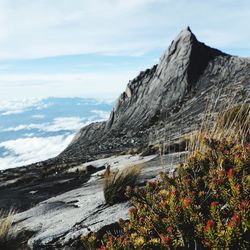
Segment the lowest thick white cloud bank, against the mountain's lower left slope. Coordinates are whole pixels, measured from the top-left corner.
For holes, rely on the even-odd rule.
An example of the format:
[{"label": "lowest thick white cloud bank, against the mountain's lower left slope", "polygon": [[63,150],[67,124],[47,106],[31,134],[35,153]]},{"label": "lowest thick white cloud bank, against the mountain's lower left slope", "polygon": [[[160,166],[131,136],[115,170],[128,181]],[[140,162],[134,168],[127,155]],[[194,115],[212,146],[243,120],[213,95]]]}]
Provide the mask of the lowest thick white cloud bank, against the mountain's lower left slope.
[{"label": "lowest thick white cloud bank, against the mountain's lower left slope", "polygon": [[69,145],[74,135],[31,137],[0,143],[11,154],[0,158],[0,169],[13,168],[46,160],[58,155]]}]

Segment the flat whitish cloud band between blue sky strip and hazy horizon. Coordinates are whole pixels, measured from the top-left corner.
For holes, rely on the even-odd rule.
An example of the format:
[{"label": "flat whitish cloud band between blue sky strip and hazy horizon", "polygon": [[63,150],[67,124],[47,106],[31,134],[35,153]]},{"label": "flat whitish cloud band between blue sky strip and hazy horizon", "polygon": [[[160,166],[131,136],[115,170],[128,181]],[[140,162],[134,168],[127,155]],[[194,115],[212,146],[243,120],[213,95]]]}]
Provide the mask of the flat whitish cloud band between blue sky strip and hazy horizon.
[{"label": "flat whitish cloud band between blue sky strip and hazy horizon", "polygon": [[[5,99],[18,99],[20,96],[29,99],[35,95],[46,98],[55,97],[93,97],[116,98],[121,89],[125,89],[129,79],[138,72],[113,72],[113,73],[86,73],[86,74],[5,74],[0,75],[0,95]],[[22,110],[25,105],[30,106],[28,100],[20,103],[0,103],[0,111],[8,107],[9,110]],[[16,106],[11,107],[11,104]],[[1,106],[3,104],[3,106]],[[44,108],[39,106],[40,108]],[[39,108],[38,107],[38,108]]]}]

